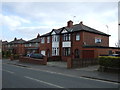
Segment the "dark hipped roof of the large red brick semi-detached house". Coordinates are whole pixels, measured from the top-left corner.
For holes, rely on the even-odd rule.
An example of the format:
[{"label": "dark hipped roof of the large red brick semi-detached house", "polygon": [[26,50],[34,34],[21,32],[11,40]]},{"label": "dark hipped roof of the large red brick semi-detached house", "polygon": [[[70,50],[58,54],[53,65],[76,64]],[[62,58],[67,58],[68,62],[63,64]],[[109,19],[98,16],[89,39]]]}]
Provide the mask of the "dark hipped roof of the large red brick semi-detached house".
[{"label": "dark hipped roof of the large red brick semi-detached house", "polygon": [[[94,28],[88,27],[88,26],[86,26],[84,24],[81,24],[81,23],[80,24],[75,24],[72,27],[67,27],[66,26],[66,27],[62,27],[62,28],[59,28],[59,29],[53,29],[52,31],[55,31],[56,34],[61,34],[63,29],[66,29],[68,31],[68,33],[69,32],[72,33],[72,32],[78,32],[78,31],[85,31],[85,32],[91,32],[91,33],[100,34],[100,35],[104,35],[104,36],[110,36],[109,34],[106,34],[104,32],[96,30]],[[51,32],[46,33],[42,36],[49,36],[51,34]]]}]

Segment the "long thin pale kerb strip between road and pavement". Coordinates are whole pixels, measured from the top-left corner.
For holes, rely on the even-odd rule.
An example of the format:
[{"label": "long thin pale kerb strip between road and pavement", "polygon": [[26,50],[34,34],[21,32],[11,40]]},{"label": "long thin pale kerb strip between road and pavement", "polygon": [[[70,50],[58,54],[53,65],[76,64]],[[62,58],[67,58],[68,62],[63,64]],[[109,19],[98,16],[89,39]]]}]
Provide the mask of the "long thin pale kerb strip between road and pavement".
[{"label": "long thin pale kerb strip between road and pavement", "polygon": [[[16,66],[16,67],[20,67],[20,66]],[[75,75],[68,75],[68,74],[63,74],[63,73],[59,73],[59,72],[53,72],[53,71],[48,71],[48,70],[41,70],[41,69],[36,69],[36,68],[27,68],[27,67],[20,67],[20,68],[26,68],[26,69],[36,70],[36,71],[42,71],[42,72],[48,72],[48,73],[51,73],[51,74],[58,74],[58,75],[63,75],[63,76],[68,76],[68,77],[74,77],[74,78],[82,78],[82,79],[87,79],[87,80],[92,80],[92,81],[99,81],[99,82],[112,83],[112,84],[119,84],[117,82],[103,81],[103,80],[86,78],[86,77],[81,77],[81,76],[79,77],[79,76],[75,76]]]}]

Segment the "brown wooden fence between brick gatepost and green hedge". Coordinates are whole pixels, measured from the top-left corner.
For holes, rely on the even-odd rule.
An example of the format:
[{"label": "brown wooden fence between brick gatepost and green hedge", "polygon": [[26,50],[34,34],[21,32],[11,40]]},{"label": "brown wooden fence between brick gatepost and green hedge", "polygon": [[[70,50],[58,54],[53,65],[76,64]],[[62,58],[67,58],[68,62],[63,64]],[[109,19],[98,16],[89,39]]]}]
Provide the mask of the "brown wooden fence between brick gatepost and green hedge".
[{"label": "brown wooden fence between brick gatepost and green hedge", "polygon": [[97,65],[98,59],[72,59],[72,68],[87,67]]}]

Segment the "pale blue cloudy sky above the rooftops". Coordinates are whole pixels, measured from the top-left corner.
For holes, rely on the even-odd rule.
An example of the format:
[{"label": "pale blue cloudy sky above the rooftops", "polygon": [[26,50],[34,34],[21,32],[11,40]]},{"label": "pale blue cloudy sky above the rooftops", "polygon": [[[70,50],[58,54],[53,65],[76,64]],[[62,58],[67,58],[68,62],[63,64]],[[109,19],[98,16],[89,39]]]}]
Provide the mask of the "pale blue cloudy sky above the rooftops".
[{"label": "pale blue cloudy sky above the rooftops", "polygon": [[112,47],[118,42],[118,2],[2,2],[0,6],[3,41],[30,40],[72,20],[110,34]]}]

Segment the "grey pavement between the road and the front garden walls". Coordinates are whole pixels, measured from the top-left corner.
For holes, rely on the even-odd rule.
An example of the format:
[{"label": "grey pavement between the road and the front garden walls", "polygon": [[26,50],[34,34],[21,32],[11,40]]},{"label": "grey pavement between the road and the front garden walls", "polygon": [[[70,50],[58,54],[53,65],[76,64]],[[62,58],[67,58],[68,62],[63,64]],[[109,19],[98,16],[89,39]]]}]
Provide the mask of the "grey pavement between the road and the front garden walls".
[{"label": "grey pavement between the road and the front garden walls", "polygon": [[19,60],[4,60],[4,63],[22,66],[26,68],[33,68],[36,70],[46,71],[46,72],[53,72],[57,74],[64,74],[73,77],[84,77],[89,79],[95,80],[102,80],[102,81],[109,81],[109,82],[116,82],[120,83],[119,74],[116,73],[108,73],[108,72],[99,72],[98,67],[99,65],[95,66],[88,66],[85,68],[74,68],[74,69],[67,69],[55,64],[48,64],[48,65],[37,65],[37,64],[30,64],[30,63],[21,63]]}]

